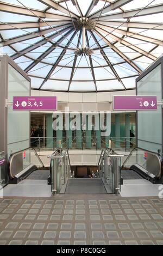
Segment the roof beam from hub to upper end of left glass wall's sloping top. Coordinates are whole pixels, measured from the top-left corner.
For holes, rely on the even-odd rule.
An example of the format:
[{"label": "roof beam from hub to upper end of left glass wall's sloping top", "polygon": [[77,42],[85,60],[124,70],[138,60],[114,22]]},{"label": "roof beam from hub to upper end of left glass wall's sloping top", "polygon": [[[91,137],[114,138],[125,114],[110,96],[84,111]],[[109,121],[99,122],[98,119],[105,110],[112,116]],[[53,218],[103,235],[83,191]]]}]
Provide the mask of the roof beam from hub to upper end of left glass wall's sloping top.
[{"label": "roof beam from hub to upper end of left glass wall's sloping top", "polygon": [[[70,28],[72,28],[72,27],[67,27],[67,28],[62,29],[62,33],[66,32]],[[48,36],[46,39],[40,40],[39,42],[37,42],[37,44],[34,44],[32,46],[28,46],[24,50],[21,50],[20,52],[17,52],[16,54],[12,55],[11,58],[12,59],[17,59],[18,57],[21,57],[24,54],[29,53],[29,52],[35,50],[36,48],[39,48],[42,45],[45,45],[47,43],[47,41],[54,39],[58,35],[59,35],[58,33],[54,33],[53,35]]]}]

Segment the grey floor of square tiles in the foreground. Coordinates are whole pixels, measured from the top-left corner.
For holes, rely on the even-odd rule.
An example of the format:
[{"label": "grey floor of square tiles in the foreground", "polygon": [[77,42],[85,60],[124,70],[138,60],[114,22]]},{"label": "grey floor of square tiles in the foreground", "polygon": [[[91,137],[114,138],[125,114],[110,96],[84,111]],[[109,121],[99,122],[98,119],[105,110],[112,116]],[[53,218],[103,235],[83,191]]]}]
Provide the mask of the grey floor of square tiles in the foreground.
[{"label": "grey floor of square tiles in the foreground", "polygon": [[163,245],[163,199],[5,197],[0,229],[0,245]]}]

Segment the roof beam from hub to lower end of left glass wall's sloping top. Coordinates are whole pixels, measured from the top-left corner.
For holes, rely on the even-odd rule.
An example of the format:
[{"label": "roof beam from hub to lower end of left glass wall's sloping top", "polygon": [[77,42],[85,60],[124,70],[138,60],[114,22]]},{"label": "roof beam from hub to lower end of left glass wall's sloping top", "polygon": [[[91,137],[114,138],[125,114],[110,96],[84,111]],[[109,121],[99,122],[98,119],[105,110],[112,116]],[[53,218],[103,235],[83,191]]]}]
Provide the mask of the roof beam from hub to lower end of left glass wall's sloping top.
[{"label": "roof beam from hub to lower end of left glass wall's sloping top", "polygon": [[[73,29],[70,29],[70,31],[68,31],[66,33],[65,36],[68,36],[72,33]],[[29,70],[33,69],[35,65],[37,65],[39,62],[41,62],[41,59],[44,59],[49,53],[53,52],[54,49],[65,39],[64,36],[61,36],[61,38],[58,40],[58,42],[55,42],[55,44],[52,45],[52,47],[47,48],[47,50],[41,54],[41,56],[39,57],[39,59],[35,60],[33,63],[31,63],[24,71],[25,72],[29,72]]]}]

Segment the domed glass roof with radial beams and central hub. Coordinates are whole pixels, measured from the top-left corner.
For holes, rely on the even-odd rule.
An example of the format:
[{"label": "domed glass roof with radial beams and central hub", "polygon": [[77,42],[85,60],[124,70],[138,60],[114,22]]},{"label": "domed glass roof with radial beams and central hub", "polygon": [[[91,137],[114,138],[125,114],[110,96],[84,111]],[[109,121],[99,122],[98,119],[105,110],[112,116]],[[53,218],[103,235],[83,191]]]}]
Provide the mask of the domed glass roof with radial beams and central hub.
[{"label": "domed glass roof with radial beams and central hub", "polygon": [[127,90],[163,53],[162,12],[163,0],[0,1],[0,52],[34,89]]}]

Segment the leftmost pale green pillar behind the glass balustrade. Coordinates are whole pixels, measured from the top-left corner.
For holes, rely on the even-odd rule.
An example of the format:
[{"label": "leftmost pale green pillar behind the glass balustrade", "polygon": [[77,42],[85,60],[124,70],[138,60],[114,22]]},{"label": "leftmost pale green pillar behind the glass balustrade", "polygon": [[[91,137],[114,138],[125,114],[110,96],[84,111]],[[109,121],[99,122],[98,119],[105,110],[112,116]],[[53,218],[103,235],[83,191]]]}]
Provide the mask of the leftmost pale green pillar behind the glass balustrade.
[{"label": "leftmost pale green pillar behind the glass balustrade", "polygon": [[46,114],[46,147],[53,148],[53,117],[52,114]]}]

